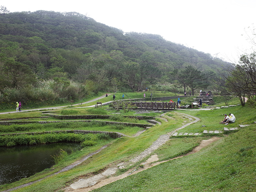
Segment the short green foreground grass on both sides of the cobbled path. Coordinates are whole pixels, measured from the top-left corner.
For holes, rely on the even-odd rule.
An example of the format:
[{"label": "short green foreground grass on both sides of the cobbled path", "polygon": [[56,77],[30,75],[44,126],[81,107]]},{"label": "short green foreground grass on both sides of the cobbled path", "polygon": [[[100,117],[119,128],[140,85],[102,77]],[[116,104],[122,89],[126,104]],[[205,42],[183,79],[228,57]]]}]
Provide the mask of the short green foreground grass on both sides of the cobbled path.
[{"label": "short green foreground grass on both sides of the cobbled path", "polygon": [[[187,102],[190,101],[188,100]],[[230,105],[231,103],[238,104],[238,101],[236,99],[231,100]],[[223,103],[223,101],[220,99],[218,106],[223,105],[225,105],[225,103]],[[213,142],[197,153],[184,156],[176,160],[167,161],[145,171],[128,176],[122,180],[117,180],[116,182],[110,183],[93,191],[256,191],[256,124],[254,123],[254,121],[256,121],[256,109],[249,108],[247,106],[236,106],[213,110],[188,109],[175,111],[200,118],[199,122],[191,124],[181,129],[179,132],[202,133],[204,130],[222,131],[224,126],[228,128],[239,127],[239,124],[249,124],[250,126],[240,128],[237,132],[220,134],[220,140]],[[83,164],[80,164],[79,166],[76,166],[69,171],[62,172],[58,175],[43,179],[28,187],[16,189],[14,191],[63,191],[65,186],[75,182],[79,179],[80,176],[90,177],[120,162],[128,162],[130,159],[147,149],[160,135],[167,134],[191,121],[190,119],[184,117],[184,115],[175,113],[175,111],[164,114],[164,117],[168,119],[168,122],[162,120],[162,125],[157,124],[153,126],[138,137],[123,137],[116,140],[111,140],[110,143],[99,143],[98,145],[84,148],[83,151],[75,152],[50,169],[46,169],[43,172],[36,173],[34,176],[21,179],[20,181],[14,182],[12,184],[0,186],[0,190],[19,186],[21,184],[38,180],[44,176],[50,175],[53,172],[56,172],[61,168],[75,162],[82,156],[99,149],[105,144],[108,144],[107,148],[102,150],[100,153],[95,154],[86,160]],[[31,112],[30,116],[33,117],[33,115],[35,115],[35,117],[38,117],[37,113],[38,112]],[[59,110],[58,113],[61,113],[61,111]],[[236,122],[229,125],[219,124],[219,122],[223,120],[223,114],[225,113],[233,113],[236,116]],[[19,113],[19,115],[20,114],[22,113]],[[28,116],[29,114],[30,113],[26,113]],[[10,118],[11,116],[13,115],[6,114],[4,115],[4,118]],[[0,115],[0,118],[4,119],[2,115]],[[202,127],[202,125],[206,125],[206,127]],[[84,129],[87,128],[85,127]],[[48,130],[51,129],[53,128],[49,128]],[[98,127],[97,129],[106,131],[115,130],[111,130],[111,127],[108,126],[101,128]],[[136,127],[133,127],[132,129],[133,130],[122,129],[121,131],[124,131],[127,134],[130,132],[130,135],[132,135],[133,133],[140,130],[140,128]],[[121,131],[119,130],[118,132]],[[202,134],[197,137],[171,137],[169,141],[155,150],[153,154],[157,154],[159,161],[169,160],[173,157],[188,153],[193,148],[198,146],[202,140],[207,140],[211,137],[212,136],[208,134]],[[137,167],[140,163],[145,162],[145,160],[146,159],[143,159],[136,164],[132,164],[130,167],[127,167],[124,170],[120,170],[116,174],[121,174],[129,168]]]}]

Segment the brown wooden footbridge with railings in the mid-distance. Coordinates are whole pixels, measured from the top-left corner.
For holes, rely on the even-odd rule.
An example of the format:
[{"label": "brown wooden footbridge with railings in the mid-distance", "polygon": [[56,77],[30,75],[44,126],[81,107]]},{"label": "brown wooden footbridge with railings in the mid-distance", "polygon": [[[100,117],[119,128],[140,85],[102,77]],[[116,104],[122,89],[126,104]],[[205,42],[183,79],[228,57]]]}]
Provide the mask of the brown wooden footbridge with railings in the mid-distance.
[{"label": "brown wooden footbridge with railings in the mid-distance", "polygon": [[[114,101],[114,105],[117,102]],[[175,102],[124,102],[125,105],[131,104],[131,105],[135,105],[138,109],[175,109],[175,107],[178,107],[178,103]]]}]

